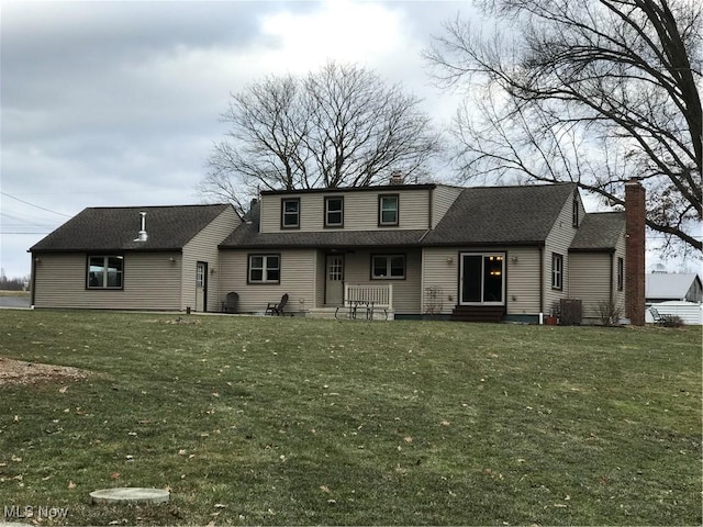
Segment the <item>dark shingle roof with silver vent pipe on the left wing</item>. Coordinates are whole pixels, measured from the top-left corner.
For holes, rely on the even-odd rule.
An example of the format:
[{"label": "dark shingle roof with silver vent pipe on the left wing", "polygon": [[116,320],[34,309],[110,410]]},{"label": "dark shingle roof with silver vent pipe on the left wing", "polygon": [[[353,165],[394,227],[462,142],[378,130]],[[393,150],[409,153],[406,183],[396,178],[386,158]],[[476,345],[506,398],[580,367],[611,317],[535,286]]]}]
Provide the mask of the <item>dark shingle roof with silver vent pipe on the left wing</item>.
[{"label": "dark shingle roof with silver vent pipe on the left wing", "polygon": [[[231,205],[88,208],[35,244],[32,253],[179,250]],[[146,212],[146,242],[135,242]]]}]

